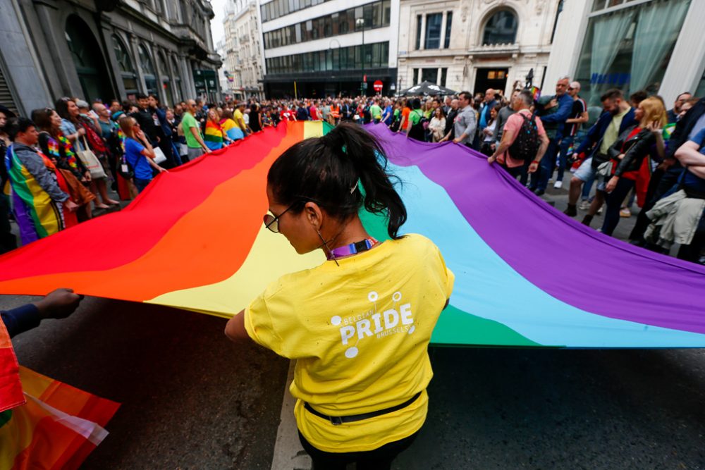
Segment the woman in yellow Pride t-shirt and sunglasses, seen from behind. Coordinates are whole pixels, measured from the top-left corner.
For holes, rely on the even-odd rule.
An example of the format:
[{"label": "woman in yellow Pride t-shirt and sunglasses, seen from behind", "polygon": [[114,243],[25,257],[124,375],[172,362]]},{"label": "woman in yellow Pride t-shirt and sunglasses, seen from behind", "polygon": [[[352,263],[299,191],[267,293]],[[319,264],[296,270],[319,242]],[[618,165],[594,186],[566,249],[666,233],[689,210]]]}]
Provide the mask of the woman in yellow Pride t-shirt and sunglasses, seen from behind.
[{"label": "woman in yellow Pride t-shirt and sunglasses, seen from behind", "polygon": [[[278,279],[226,326],[296,360],[290,392],[314,469],[389,468],[426,419],[428,345],[453,273],[426,237],[398,236],[406,209],[385,168],[376,140],[350,123],[281,154],[266,228],[328,261]],[[391,240],[370,237],[363,206],[386,215]]]}]

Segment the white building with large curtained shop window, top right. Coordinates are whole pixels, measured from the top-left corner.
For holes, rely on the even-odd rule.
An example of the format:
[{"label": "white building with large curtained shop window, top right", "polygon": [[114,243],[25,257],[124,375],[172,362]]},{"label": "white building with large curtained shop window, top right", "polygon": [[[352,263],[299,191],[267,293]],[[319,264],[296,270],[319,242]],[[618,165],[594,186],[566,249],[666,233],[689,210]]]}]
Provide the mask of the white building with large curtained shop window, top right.
[{"label": "white building with large curtained shop window, top right", "polygon": [[618,87],[658,93],[669,106],[681,92],[705,96],[703,0],[564,0],[546,82],[571,75],[588,106]]}]

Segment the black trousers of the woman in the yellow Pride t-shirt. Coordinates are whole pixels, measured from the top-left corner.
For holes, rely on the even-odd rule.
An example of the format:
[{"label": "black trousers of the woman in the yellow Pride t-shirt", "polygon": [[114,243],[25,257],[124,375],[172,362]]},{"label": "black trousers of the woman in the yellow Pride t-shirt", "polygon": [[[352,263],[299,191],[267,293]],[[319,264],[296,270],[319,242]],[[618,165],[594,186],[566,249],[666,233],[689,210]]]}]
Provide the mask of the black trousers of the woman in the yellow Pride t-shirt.
[{"label": "black trousers of the woman in the yellow Pride t-shirt", "polygon": [[313,460],[313,470],[345,470],[353,462],[357,470],[389,470],[393,460],[412,445],[418,433],[367,452],[325,452],[314,447],[300,432],[299,440]]}]

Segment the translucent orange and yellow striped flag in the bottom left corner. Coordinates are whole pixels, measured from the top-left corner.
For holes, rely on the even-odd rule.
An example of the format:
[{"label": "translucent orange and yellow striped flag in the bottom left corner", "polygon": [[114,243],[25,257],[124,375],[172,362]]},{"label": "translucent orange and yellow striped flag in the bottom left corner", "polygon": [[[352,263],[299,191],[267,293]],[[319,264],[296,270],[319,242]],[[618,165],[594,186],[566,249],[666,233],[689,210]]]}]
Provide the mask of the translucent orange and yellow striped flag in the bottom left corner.
[{"label": "translucent orange and yellow striped flag in the bottom left corner", "polygon": [[120,404],[20,367],[27,402],[0,413],[0,469],[77,469]]}]

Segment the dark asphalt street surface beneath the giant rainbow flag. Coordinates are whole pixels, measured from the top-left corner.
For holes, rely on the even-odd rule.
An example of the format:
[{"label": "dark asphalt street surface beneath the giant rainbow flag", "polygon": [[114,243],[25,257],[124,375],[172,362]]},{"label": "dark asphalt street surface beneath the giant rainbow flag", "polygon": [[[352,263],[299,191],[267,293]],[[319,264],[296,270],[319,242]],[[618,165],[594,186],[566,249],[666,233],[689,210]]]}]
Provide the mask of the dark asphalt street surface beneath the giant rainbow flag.
[{"label": "dark asphalt street surface beneath the giant rainbow flag", "polygon": [[[562,210],[565,194],[545,199]],[[89,298],[15,344],[21,364],[123,403],[85,469],[307,468],[275,447],[295,433],[279,422],[288,361],[224,326]],[[705,350],[434,347],[431,361],[429,418],[396,469],[705,469]]]}]

